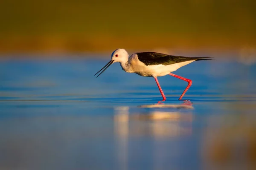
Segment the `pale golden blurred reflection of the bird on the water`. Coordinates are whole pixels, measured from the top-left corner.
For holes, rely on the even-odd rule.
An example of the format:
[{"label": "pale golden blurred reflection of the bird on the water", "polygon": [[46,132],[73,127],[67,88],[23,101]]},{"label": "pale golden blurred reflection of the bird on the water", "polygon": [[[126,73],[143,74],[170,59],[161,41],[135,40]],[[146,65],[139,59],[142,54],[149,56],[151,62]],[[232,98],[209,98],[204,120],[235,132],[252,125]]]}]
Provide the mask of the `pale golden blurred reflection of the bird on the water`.
[{"label": "pale golden blurred reflection of the bird on the water", "polygon": [[[168,137],[186,135],[191,133],[190,126],[182,126],[181,122],[192,123],[192,105],[140,105],[139,108],[151,110],[130,111],[129,107],[116,107],[114,122],[115,133],[118,136],[152,135],[155,137]],[[158,110],[156,110],[158,109]],[[183,111],[181,109],[184,109]],[[144,122],[143,122],[144,121]],[[148,123],[150,121],[150,124]],[[133,125],[130,127],[129,124]],[[163,133],[164,131],[164,133]]]}]

